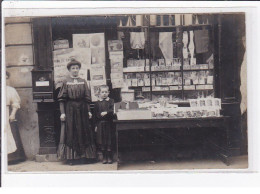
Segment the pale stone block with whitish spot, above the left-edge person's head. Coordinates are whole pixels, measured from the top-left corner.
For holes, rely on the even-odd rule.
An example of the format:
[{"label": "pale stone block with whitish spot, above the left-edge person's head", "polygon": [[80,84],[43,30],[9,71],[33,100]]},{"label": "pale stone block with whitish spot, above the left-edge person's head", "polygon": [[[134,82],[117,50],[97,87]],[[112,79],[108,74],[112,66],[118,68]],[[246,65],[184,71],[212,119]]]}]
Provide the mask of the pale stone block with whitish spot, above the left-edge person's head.
[{"label": "pale stone block with whitish spot, above the left-edge person's head", "polygon": [[33,65],[32,46],[6,47],[6,66]]}]

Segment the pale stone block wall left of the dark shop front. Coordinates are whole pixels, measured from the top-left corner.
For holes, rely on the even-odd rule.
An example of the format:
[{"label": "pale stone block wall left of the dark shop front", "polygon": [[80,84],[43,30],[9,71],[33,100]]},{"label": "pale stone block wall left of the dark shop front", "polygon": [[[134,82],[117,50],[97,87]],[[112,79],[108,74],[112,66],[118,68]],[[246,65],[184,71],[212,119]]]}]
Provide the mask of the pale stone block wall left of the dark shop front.
[{"label": "pale stone block wall left of the dark shop front", "polygon": [[19,131],[25,154],[33,160],[39,151],[37,104],[32,100],[31,70],[34,66],[30,18],[6,18],[5,60],[10,72],[10,85],[20,95],[21,109],[17,112]]}]

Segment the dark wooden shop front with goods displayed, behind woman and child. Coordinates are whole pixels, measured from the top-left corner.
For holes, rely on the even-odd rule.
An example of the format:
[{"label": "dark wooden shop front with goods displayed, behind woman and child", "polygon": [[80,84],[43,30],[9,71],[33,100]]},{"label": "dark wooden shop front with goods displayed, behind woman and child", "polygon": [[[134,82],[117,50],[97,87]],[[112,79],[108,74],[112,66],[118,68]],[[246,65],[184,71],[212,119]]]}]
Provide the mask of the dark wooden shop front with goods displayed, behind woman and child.
[{"label": "dark wooden shop front with goods displayed, behind woman and child", "polygon": [[92,111],[99,86],[109,86],[117,115],[117,153],[201,146],[203,153],[213,150],[228,164],[242,145],[239,73],[244,17],[32,18],[39,155],[57,153],[61,131],[57,95],[73,58],[82,64],[80,76],[91,90]]}]

